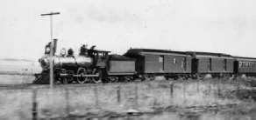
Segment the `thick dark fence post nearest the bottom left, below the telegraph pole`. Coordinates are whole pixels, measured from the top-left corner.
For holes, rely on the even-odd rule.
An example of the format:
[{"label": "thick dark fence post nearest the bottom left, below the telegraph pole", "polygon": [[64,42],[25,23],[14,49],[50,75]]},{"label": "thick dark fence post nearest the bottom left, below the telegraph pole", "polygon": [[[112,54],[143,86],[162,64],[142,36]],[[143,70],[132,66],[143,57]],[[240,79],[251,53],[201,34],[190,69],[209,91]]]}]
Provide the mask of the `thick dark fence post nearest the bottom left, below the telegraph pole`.
[{"label": "thick dark fence post nearest the bottom left, below the telegraph pole", "polygon": [[38,119],[37,89],[32,89],[32,120]]}]

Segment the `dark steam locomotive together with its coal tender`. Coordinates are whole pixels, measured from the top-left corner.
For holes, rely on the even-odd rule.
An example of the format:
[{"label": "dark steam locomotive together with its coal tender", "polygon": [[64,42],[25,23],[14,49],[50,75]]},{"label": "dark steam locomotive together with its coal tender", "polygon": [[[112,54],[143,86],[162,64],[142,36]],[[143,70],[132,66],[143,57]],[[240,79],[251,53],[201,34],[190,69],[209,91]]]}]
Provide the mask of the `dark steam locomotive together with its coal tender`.
[{"label": "dark steam locomotive together with its coal tender", "polygon": [[[55,40],[53,53],[56,50]],[[82,45],[79,56],[74,56],[72,49],[62,49],[60,56],[50,56],[51,43],[46,44],[45,55],[39,59],[42,68],[35,74],[33,83],[49,83],[50,60],[53,59],[53,79],[60,83],[109,83],[132,81],[136,74],[135,60],[121,56],[110,56],[110,51],[87,49]]]}]

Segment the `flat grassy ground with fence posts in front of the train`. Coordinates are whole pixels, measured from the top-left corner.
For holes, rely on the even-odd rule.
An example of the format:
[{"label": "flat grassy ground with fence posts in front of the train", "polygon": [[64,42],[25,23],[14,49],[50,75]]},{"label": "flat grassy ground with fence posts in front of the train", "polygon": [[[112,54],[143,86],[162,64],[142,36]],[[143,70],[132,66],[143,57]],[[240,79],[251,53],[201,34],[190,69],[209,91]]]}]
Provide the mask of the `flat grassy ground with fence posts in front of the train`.
[{"label": "flat grassy ground with fence posts in front of the train", "polygon": [[[33,85],[1,75],[0,119],[254,119],[256,92],[246,80],[205,79]],[[256,90],[255,90],[256,91]]]}]

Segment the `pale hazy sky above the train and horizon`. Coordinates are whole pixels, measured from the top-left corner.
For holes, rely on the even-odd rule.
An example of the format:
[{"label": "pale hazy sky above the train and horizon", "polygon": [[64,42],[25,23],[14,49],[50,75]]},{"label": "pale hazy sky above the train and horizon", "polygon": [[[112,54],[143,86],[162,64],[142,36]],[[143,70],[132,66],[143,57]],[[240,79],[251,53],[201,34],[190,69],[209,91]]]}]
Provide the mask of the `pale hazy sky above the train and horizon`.
[{"label": "pale hazy sky above the train and horizon", "polygon": [[124,54],[130,48],[256,57],[255,0],[1,0],[0,58],[38,61],[53,38]]}]

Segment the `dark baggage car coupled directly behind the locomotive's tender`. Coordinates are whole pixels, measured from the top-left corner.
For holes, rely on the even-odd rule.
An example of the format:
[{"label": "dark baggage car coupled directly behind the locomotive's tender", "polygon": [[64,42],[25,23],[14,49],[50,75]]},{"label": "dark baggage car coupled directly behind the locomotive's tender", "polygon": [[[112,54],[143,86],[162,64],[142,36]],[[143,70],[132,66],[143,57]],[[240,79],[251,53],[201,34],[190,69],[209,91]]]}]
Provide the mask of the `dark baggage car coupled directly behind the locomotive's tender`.
[{"label": "dark baggage car coupled directly behind the locomotive's tender", "polygon": [[156,76],[164,76],[167,79],[187,79],[191,76],[191,56],[186,52],[130,49],[124,56],[136,59],[135,69],[142,80]]}]

